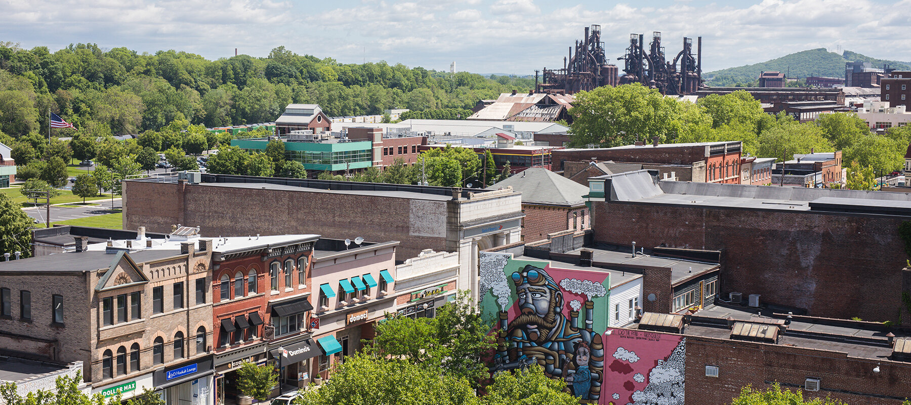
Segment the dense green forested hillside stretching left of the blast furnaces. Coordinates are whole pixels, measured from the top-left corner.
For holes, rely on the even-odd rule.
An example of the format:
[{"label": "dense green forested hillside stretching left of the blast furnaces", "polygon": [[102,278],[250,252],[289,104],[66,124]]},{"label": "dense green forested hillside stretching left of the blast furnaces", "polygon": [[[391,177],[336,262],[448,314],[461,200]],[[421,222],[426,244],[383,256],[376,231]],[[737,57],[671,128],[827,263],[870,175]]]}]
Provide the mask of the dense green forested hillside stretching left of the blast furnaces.
[{"label": "dense green forested hillside stretching left of the blast furnaces", "polygon": [[48,109],[77,128],[107,124],[116,134],[159,130],[175,119],[207,127],[271,121],[292,102],[319,104],[329,116],[467,109],[532,85],[385,62],[340,64],[284,47],[269,57],[207,60],[174,50],[77,44],[52,53],[0,42],[0,131],[46,133]]}]

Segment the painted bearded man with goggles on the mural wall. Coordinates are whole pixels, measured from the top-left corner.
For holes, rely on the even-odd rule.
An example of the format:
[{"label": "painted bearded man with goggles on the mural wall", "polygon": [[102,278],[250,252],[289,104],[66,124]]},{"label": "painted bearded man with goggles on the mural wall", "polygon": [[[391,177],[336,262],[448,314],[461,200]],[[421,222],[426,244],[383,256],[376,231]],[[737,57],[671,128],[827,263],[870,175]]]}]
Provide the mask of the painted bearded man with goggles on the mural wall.
[{"label": "painted bearded man with goggles on the mural wall", "polygon": [[[505,330],[500,332],[501,349],[495,359],[495,370],[522,368],[537,361],[548,375],[566,378],[577,371],[573,358],[578,348],[585,349],[587,362],[589,354],[603,359],[601,337],[591,330],[579,329],[577,322],[570,322],[563,314],[563,292],[544,269],[526,265],[511,278],[516,286],[519,314],[506,324],[507,313],[500,313],[501,327]],[[603,361],[592,370],[595,372],[585,387],[586,392],[582,395],[574,392],[578,397],[598,400],[600,369]],[[585,372],[589,373],[588,367]],[[574,391],[579,388],[577,384]]]}]

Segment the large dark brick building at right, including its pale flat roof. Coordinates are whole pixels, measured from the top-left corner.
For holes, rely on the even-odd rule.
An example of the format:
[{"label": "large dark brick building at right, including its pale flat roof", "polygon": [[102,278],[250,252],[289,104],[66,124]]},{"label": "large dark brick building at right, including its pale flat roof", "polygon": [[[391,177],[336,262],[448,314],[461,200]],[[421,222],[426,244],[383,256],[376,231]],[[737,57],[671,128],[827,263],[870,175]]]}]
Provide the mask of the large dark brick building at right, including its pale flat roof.
[{"label": "large dark brick building at right, including its pale flat roof", "polygon": [[911,219],[904,193],[656,184],[645,171],[589,185],[595,241],[721,251],[722,296],[895,321],[901,294],[911,292],[897,234]]}]

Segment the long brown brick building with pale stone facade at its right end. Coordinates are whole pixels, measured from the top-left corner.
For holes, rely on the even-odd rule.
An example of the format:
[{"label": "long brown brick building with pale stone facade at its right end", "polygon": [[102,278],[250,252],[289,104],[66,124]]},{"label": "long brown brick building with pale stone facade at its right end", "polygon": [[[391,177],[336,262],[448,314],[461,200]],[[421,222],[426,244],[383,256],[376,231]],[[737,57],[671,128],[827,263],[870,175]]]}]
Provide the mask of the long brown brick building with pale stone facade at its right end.
[{"label": "long brown brick building with pale stone facade at its right end", "polygon": [[509,189],[468,192],[213,174],[203,174],[199,183],[165,180],[124,182],[125,196],[142,196],[125,198],[125,227],[147,223],[150,230],[162,230],[194,223],[226,236],[319,231],[339,239],[397,240],[404,257],[423,249],[458,252],[459,289],[476,290],[477,250],[518,242],[524,216],[520,194]]}]

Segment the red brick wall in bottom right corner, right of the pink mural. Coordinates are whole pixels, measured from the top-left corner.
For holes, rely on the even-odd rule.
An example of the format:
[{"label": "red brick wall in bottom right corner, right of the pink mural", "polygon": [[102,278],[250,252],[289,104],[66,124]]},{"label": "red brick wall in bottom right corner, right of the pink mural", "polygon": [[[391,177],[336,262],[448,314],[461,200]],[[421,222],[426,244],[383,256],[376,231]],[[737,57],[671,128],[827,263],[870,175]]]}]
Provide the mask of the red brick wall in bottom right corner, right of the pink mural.
[{"label": "red brick wall in bottom right corner, right of the pink mural", "polygon": [[[852,405],[899,405],[901,400],[888,397],[911,397],[911,365],[907,363],[740,340],[692,336],[686,340],[687,403],[731,403],[742,387],[752,384],[754,389],[769,389],[774,381],[783,389],[801,391],[804,400],[828,396]],[[873,372],[877,364],[879,373]],[[717,378],[705,376],[707,365],[718,366]],[[820,379],[820,390],[802,389],[807,378]]]}]

